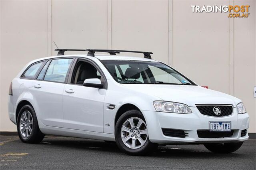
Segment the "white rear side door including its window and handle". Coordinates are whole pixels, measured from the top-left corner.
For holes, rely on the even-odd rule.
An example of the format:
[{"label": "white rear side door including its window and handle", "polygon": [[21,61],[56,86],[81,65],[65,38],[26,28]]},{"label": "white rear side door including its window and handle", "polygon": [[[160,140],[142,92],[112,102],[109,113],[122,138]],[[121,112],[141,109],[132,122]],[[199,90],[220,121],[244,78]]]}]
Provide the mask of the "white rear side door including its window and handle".
[{"label": "white rear side door including its window and handle", "polygon": [[73,58],[48,60],[33,86],[34,100],[44,125],[63,127],[62,94]]}]

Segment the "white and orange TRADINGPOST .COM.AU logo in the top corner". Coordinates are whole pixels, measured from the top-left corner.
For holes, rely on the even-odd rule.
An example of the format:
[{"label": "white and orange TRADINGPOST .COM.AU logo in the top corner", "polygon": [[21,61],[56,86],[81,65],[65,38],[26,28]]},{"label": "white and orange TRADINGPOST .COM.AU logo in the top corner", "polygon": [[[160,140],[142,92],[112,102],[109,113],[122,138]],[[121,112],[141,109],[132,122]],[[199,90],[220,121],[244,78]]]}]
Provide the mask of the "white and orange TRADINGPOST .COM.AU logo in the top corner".
[{"label": "white and orange TRADINGPOST .COM.AU logo in the top corner", "polygon": [[228,18],[248,18],[250,5],[191,5],[192,12],[228,12]]}]

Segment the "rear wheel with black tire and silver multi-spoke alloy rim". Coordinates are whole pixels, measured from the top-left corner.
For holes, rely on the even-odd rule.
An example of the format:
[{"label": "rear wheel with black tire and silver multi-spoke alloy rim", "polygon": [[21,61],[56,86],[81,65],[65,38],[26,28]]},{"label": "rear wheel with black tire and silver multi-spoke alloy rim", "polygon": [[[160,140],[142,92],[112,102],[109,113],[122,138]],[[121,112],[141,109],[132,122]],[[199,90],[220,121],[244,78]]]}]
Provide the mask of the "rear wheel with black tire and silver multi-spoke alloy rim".
[{"label": "rear wheel with black tire and silver multi-spoke alloy rim", "polygon": [[40,143],[44,134],[38,127],[36,113],[31,105],[24,105],[18,114],[17,130],[24,143]]}]

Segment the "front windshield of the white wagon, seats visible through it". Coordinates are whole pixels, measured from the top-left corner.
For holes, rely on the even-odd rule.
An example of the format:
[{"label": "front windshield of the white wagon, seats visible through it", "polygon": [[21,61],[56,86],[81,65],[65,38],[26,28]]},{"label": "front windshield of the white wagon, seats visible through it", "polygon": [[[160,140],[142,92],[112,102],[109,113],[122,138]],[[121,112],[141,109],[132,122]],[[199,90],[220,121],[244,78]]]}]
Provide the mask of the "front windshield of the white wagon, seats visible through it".
[{"label": "front windshield of the white wagon, seats visible through it", "polygon": [[195,85],[192,81],[160,62],[101,60],[112,77],[122,84]]}]

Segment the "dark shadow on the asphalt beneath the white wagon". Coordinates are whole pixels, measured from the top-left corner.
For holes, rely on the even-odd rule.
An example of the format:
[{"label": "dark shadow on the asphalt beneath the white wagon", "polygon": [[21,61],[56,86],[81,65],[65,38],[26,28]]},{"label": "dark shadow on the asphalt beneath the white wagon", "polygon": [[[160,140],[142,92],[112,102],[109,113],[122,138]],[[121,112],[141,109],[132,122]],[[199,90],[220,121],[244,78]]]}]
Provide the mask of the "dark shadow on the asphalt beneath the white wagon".
[{"label": "dark shadow on the asphalt beneath the white wagon", "polygon": [[[70,138],[70,137],[46,137],[40,144],[51,144],[55,147],[65,147],[72,150],[84,150],[84,151],[102,151],[108,152],[108,154],[124,154],[122,153],[114,142],[104,142],[102,140],[89,140],[81,138]],[[202,146],[202,145],[201,145]],[[241,157],[244,154],[231,153],[232,158]],[[198,145],[166,145],[159,146],[149,157],[159,158],[226,158],[227,155],[231,154],[216,154],[206,150],[204,147]]]}]

